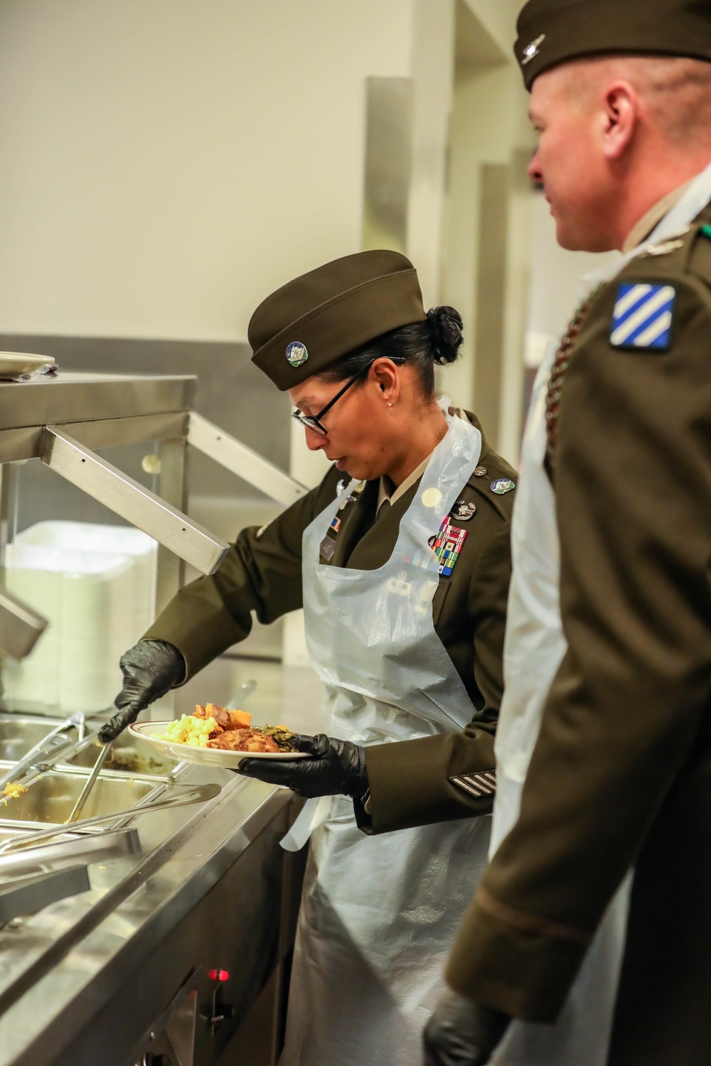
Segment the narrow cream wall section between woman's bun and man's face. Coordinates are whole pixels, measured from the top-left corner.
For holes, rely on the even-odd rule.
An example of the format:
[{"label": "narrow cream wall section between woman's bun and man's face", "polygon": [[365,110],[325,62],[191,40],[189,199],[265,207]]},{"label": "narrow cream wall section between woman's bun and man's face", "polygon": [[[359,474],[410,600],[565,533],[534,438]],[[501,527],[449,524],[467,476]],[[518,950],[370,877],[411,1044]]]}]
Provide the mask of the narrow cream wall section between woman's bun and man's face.
[{"label": "narrow cream wall section between woman's bun and man's face", "polygon": [[[492,442],[516,463],[520,441],[523,384],[523,334],[530,257],[530,201],[521,180],[533,146],[526,93],[512,44],[518,0],[460,0],[457,18],[457,67],[452,113],[452,148],[445,257],[443,295],[465,322],[463,357],[441,374],[442,387],[462,406],[480,409],[474,346],[478,280],[481,266],[480,212],[482,167],[510,167],[506,282],[502,293],[501,402],[498,436]],[[490,413],[481,411],[486,417]],[[492,421],[496,422],[496,419]],[[487,426],[485,425],[485,430]]]}]

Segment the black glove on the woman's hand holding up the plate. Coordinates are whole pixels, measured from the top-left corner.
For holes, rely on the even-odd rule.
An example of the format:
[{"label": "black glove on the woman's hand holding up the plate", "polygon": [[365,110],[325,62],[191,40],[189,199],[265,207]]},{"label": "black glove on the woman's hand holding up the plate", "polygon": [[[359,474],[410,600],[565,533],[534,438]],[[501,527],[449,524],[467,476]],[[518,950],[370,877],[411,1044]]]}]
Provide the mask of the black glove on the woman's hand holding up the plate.
[{"label": "black glove on the woman's hand holding up the plate", "polygon": [[238,773],[268,785],[284,785],[297,796],[361,796],[368,788],[366,753],[348,740],[332,740],[324,733],[294,733],[291,743],[312,759],[243,759]]}]

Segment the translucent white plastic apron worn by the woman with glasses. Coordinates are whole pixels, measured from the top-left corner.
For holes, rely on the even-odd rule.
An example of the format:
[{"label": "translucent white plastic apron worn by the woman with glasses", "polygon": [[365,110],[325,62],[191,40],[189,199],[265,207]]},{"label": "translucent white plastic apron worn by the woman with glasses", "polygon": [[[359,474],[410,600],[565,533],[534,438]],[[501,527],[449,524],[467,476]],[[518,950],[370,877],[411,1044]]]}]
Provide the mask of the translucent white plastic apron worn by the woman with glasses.
[{"label": "translucent white plastic apron worn by the woman with glasses", "polygon": [[[339,501],[304,533],[306,635],[327,730],[358,744],[459,730],[473,708],[437,636],[427,545],[458,499],[481,434],[447,414],[377,570],[319,563]],[[352,487],[352,486],[350,486]],[[343,796],[309,801],[285,846],[311,836],[281,1066],[416,1066],[449,948],[486,865],[490,819],[368,837]]]}]

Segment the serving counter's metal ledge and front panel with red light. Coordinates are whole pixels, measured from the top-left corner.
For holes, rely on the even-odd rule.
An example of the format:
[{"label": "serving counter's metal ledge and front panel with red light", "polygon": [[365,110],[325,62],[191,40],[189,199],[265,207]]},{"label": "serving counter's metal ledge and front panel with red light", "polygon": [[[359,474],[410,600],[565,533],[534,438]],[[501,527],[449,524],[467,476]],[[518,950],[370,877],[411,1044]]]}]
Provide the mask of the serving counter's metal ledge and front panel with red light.
[{"label": "serving counter's metal ledge and front panel with red light", "polygon": [[[142,855],[90,868],[90,892],[0,932],[2,1066],[140,1062],[185,985],[194,1049],[181,1066],[216,1062],[290,947],[278,847],[290,794],[229,777],[197,811],[134,818]],[[231,1017],[215,1024],[217,990]]]}]

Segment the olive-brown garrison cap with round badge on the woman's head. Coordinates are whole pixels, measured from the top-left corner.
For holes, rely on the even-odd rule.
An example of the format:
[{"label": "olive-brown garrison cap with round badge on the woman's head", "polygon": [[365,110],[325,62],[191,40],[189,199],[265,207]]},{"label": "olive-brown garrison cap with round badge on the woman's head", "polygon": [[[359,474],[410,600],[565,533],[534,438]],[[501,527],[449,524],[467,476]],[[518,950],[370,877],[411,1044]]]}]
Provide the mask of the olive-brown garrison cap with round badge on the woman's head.
[{"label": "olive-brown garrison cap with round badge on the woman's head", "polygon": [[358,252],[281,286],[252,316],[252,361],[282,392],[369,340],[426,319],[399,252]]}]

